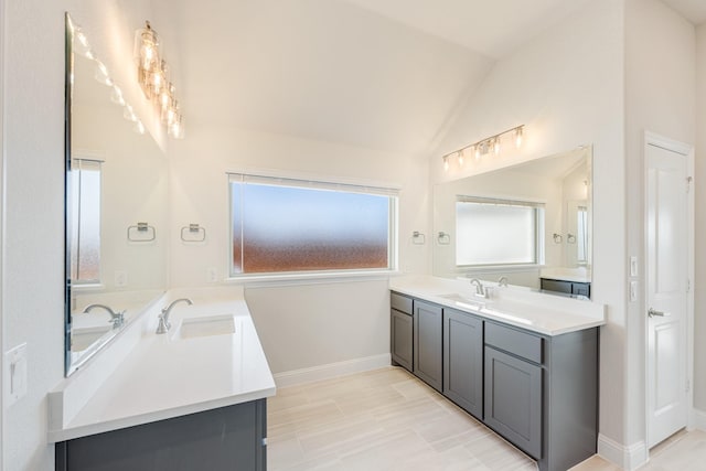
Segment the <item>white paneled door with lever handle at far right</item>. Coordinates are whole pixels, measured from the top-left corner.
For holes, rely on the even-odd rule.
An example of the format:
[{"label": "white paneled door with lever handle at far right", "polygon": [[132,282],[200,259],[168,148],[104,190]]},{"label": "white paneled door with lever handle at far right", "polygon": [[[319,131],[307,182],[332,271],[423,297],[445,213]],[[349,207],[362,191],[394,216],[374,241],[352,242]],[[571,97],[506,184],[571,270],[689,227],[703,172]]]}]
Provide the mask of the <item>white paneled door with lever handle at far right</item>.
[{"label": "white paneled door with lever handle at far right", "polygon": [[648,447],[686,426],[688,186],[687,157],[645,144]]}]

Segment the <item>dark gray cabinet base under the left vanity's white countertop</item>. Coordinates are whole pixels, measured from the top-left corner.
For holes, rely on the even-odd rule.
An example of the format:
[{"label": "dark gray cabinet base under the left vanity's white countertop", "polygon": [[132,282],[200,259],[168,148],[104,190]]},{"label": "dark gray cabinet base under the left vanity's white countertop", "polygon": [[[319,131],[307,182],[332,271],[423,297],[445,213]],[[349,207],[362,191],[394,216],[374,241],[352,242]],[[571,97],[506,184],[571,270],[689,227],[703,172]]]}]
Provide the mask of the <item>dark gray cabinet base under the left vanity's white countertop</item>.
[{"label": "dark gray cabinet base under the left vanity's white countertop", "polygon": [[56,443],[56,471],[266,470],[266,399]]}]

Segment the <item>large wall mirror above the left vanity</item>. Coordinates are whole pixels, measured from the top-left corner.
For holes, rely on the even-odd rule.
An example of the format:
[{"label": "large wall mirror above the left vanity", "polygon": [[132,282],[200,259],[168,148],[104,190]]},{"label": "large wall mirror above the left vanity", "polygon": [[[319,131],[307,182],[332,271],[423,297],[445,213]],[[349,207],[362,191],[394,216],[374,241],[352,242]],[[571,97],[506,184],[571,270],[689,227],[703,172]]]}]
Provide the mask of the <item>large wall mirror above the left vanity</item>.
[{"label": "large wall mirror above the left vanity", "polygon": [[167,286],[167,158],[75,33],[67,14],[66,375]]}]

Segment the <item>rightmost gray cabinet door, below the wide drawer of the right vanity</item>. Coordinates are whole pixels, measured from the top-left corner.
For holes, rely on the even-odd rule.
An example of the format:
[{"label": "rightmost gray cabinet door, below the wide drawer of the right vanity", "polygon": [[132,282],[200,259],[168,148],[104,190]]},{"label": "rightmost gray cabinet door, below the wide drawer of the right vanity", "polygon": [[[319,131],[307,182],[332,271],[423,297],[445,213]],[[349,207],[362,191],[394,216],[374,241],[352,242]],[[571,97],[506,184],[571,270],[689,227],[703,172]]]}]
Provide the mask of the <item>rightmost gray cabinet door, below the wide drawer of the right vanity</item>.
[{"label": "rightmost gray cabinet door, below the wide drawer of the right vanity", "polygon": [[542,458],[542,367],[485,346],[485,424]]}]

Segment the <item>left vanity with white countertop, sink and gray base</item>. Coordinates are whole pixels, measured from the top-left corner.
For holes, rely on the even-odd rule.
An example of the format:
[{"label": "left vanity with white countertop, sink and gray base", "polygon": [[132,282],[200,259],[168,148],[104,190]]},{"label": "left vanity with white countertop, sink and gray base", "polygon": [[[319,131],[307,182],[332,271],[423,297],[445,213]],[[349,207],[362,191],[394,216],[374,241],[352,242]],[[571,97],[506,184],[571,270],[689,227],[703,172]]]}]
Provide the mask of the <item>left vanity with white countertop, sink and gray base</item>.
[{"label": "left vanity with white countertop, sink and gray base", "polygon": [[242,295],[194,291],[158,334],[167,295],[111,344],[122,354],[103,351],[50,393],[56,469],[267,469],[276,388]]}]

